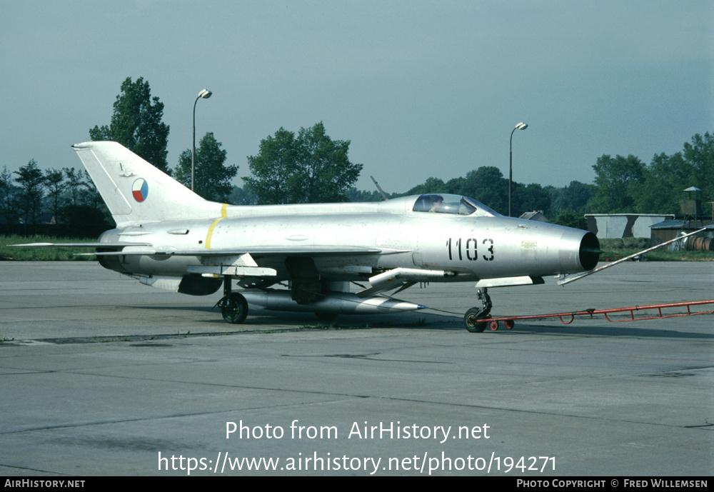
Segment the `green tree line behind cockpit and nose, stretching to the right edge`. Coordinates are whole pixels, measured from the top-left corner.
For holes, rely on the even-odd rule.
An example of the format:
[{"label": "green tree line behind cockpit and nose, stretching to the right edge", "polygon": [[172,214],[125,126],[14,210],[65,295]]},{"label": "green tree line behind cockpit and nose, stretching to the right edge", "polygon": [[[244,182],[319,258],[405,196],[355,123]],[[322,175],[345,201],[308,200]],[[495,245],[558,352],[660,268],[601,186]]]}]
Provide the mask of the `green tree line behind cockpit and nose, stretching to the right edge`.
[{"label": "green tree line behind cockpit and nose, stretching to the right edge", "polygon": [[[585,229],[583,214],[675,214],[685,189],[700,189],[697,198],[714,200],[714,136],[695,134],[683,151],[664,153],[644,164],[635,156],[600,156],[595,164],[595,183],[571,181],[562,188],[513,183],[513,215],[543,211],[555,224]],[[453,193],[471,196],[501,214],[508,212],[508,179],[492,166],[469,171],[462,178],[444,182],[431,177],[404,196],[423,193]],[[374,201],[374,192],[351,191],[352,201]]]}]

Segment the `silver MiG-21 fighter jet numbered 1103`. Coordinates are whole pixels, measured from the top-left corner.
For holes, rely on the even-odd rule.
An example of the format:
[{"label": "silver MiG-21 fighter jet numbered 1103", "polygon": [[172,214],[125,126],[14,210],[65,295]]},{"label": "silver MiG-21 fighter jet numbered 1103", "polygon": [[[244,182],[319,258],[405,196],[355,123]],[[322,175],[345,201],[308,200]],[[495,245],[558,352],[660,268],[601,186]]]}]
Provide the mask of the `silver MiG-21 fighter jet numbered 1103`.
[{"label": "silver MiG-21 fighter jet numbered 1103", "polygon": [[[381,294],[419,282],[474,282],[483,305],[469,309],[464,324],[483,331],[488,288],[590,271],[601,253],[591,232],[501,216],[466,196],[233,206],[202,199],[116,142],[73,148],[116,229],[96,243],[26,246],[91,246],[104,268],[193,296],[222,286],[216,306],[228,323],[243,323],[248,304],[323,320],[413,311],[424,306]],[[274,288],[285,282],[289,289]],[[351,293],[351,282],[361,290]]]}]

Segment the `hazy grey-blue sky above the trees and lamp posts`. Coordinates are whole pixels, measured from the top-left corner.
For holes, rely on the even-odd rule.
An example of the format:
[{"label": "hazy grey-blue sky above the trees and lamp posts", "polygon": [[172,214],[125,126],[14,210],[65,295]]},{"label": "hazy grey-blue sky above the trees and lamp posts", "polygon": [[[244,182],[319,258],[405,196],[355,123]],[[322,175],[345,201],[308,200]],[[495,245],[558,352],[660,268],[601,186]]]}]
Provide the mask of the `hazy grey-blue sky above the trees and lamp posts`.
[{"label": "hazy grey-blue sky above the trees and lamp posts", "polygon": [[[386,191],[480,166],[592,183],[603,154],[649,164],[714,131],[714,2],[0,0],[0,166],[81,162],[127,76],[149,81],[169,165],[207,131],[246,156],[323,121]],[[241,184],[236,181],[236,184]]]}]

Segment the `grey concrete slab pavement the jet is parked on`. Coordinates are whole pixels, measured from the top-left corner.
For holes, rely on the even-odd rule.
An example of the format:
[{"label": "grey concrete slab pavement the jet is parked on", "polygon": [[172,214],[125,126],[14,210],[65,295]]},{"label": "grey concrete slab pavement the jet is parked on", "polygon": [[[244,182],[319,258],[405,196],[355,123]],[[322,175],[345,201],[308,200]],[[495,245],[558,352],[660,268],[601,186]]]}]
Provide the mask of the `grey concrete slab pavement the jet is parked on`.
[{"label": "grey concrete slab pavement the jet is parked on", "polygon": [[[490,293],[501,316],[707,300],[713,283],[714,262],[643,262]],[[432,283],[398,297],[438,311],[233,326],[219,296],[0,262],[0,475],[714,472],[714,315],[468,333],[473,283]]]}]

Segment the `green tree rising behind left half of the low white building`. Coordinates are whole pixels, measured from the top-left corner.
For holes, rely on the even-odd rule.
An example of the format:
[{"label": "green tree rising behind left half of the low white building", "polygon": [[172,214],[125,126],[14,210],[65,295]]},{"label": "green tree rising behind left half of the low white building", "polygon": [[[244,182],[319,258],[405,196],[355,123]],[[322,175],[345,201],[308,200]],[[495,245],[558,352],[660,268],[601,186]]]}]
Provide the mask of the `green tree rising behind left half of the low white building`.
[{"label": "green tree rising behind left half of the low white building", "polygon": [[588,202],[597,214],[633,212],[633,188],[644,181],[645,165],[633,155],[598,158],[595,169],[595,196]]}]

